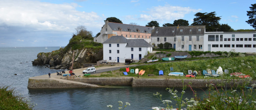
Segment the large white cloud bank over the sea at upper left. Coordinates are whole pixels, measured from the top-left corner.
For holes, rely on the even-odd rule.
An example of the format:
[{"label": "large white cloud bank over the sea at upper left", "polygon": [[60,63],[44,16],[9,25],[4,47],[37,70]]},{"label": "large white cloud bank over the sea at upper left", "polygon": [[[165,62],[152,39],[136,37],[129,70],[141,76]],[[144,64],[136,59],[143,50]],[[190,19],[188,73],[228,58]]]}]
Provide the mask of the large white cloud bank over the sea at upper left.
[{"label": "large white cloud bank over the sea at upper left", "polygon": [[1,0],[0,7],[0,26],[26,27],[32,31],[73,31],[82,24],[88,24],[85,25],[88,29],[102,25],[98,22],[102,18],[97,13],[77,11],[77,3]]}]

